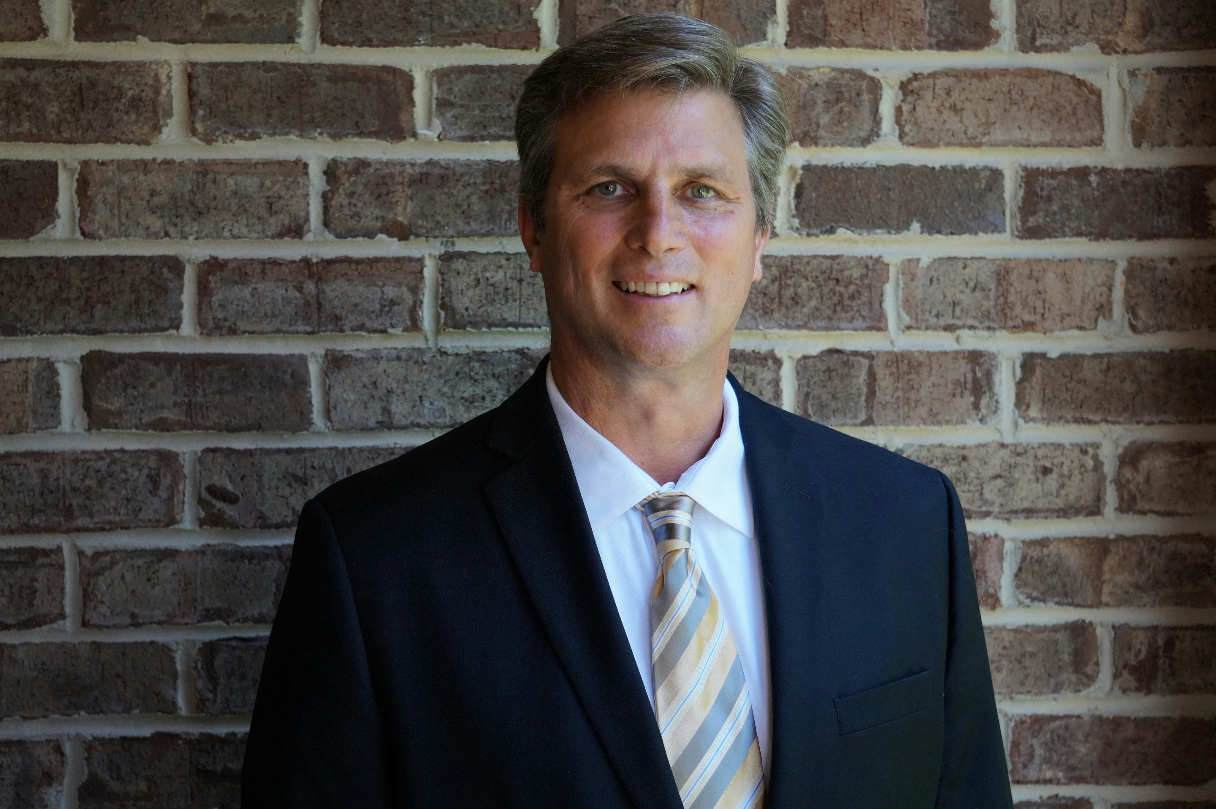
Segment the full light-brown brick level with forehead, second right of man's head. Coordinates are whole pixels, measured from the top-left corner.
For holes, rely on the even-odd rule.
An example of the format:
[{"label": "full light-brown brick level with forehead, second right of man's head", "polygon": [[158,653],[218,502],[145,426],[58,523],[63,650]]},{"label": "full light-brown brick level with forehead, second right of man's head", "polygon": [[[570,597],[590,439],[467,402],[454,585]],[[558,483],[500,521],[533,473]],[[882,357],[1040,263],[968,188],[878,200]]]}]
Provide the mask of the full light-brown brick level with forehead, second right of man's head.
[{"label": "full light-brown brick level with forehead, second right of man's head", "polygon": [[895,108],[908,146],[1102,146],[1102,91],[1031,68],[917,73]]}]

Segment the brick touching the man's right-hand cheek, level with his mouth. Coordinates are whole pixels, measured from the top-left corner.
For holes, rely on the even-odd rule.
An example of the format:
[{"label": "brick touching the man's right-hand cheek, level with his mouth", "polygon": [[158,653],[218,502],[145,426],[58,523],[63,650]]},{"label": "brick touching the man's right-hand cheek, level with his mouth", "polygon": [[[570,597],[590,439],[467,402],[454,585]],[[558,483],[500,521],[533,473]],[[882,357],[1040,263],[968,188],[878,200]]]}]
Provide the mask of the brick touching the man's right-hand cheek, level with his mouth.
[{"label": "brick touching the man's right-hand cheek, level with his mouth", "polygon": [[886,262],[869,256],[765,256],[736,328],[883,330],[888,275]]}]

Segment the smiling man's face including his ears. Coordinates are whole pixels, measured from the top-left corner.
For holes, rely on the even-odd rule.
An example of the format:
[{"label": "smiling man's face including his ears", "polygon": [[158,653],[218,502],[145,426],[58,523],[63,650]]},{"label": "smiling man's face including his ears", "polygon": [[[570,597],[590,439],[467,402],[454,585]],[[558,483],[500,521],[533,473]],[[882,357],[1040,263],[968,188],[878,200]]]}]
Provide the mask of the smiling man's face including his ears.
[{"label": "smiling man's face including his ears", "polygon": [[520,205],[554,344],[647,368],[725,356],[767,241],[734,103],[603,95],[558,121],[554,146],[544,230]]}]

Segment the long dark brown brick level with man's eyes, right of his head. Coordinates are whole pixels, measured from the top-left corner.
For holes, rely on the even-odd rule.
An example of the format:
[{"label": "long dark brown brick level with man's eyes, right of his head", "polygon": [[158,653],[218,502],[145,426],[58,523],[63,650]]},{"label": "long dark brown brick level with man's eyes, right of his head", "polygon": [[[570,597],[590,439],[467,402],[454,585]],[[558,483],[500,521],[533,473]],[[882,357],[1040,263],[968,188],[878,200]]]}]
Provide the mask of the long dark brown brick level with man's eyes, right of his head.
[{"label": "long dark brown brick level with man's eyes, right of his head", "polygon": [[794,192],[804,233],[958,236],[1004,231],[1004,177],[997,169],[805,165]]}]

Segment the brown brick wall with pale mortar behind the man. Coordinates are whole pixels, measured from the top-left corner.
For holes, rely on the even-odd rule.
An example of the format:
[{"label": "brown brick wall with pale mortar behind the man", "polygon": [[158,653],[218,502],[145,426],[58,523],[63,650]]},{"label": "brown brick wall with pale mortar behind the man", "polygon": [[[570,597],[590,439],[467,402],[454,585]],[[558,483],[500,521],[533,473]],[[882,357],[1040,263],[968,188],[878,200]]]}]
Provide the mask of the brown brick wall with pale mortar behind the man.
[{"label": "brown brick wall with pale mortar behind the man", "polygon": [[519,81],[675,9],[793,101],[734,372],[956,481],[1023,809],[1216,805],[1216,6],[533,2],[0,5],[0,804],[236,805],[303,500],[546,345]]}]

